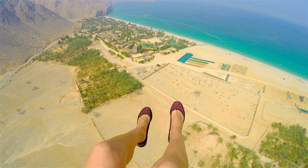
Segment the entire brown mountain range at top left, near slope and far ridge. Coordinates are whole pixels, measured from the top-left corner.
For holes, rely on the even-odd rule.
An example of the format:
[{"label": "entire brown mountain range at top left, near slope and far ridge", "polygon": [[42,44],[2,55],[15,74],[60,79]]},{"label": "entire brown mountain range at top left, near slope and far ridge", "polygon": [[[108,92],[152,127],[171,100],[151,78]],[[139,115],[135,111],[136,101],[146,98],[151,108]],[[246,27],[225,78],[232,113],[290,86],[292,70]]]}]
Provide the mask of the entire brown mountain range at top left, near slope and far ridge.
[{"label": "entire brown mountain range at top left, near slope and far ridge", "polygon": [[0,73],[16,68],[54,40],[73,35],[73,27],[81,25],[72,21],[106,15],[111,9],[112,3],[103,0],[0,1]]}]

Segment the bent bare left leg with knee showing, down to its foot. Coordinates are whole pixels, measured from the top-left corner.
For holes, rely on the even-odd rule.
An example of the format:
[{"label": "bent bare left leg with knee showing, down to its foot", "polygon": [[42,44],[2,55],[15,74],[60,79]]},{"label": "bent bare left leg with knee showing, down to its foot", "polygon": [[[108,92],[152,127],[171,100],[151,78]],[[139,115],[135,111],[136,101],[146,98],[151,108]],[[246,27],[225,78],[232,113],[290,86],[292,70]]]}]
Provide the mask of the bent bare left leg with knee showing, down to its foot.
[{"label": "bent bare left leg with knee showing, down to its foot", "polygon": [[132,160],[136,145],[144,146],[145,144],[140,145],[138,143],[147,138],[147,129],[152,119],[152,112],[151,118],[149,115],[140,114],[135,129],[95,145],[84,167],[125,167]]}]

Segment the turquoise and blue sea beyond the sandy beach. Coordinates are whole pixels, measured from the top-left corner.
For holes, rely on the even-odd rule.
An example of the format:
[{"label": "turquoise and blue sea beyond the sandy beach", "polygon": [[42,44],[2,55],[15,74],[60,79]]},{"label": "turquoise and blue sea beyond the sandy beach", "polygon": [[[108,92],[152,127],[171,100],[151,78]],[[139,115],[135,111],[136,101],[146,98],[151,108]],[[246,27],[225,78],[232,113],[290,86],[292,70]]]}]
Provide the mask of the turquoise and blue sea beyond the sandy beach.
[{"label": "turquoise and blue sea beyond the sandy beach", "polygon": [[[271,10],[256,5],[263,2]],[[283,1],[294,9],[302,7],[299,2]],[[108,16],[213,44],[308,79],[307,16],[300,13],[306,8],[288,15],[283,3],[130,1],[116,3]]]}]

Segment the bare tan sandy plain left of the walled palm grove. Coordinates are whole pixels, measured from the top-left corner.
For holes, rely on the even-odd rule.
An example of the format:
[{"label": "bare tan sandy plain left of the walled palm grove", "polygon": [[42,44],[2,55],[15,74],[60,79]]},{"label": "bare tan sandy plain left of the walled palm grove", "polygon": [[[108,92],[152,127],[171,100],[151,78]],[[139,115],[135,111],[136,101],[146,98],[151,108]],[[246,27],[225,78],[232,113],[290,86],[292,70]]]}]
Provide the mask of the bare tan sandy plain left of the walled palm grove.
[{"label": "bare tan sandy plain left of the walled palm grove", "polygon": [[75,69],[34,62],[0,90],[1,167],[83,166],[102,138],[80,112]]}]

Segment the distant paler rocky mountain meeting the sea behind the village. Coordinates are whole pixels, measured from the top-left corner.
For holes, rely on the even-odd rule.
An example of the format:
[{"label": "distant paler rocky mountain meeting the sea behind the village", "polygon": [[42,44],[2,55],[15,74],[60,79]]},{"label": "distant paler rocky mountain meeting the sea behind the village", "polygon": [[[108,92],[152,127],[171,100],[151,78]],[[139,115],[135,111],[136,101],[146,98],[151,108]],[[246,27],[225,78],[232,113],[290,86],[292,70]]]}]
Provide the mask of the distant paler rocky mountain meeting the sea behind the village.
[{"label": "distant paler rocky mountain meeting the sea behind the village", "polygon": [[112,2],[104,0],[33,0],[68,20],[106,15],[112,9]]}]

